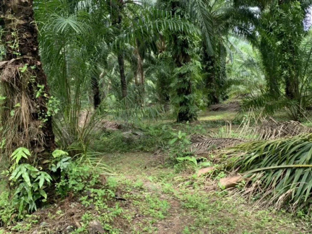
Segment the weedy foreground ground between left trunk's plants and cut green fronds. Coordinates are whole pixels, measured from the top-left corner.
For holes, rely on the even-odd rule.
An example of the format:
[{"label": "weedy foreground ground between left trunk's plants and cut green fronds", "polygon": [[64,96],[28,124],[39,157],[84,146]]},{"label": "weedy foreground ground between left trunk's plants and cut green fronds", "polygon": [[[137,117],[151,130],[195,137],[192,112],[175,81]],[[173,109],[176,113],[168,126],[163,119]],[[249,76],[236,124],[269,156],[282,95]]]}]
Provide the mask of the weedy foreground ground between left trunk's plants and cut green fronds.
[{"label": "weedy foreground ground between left trunk's plants and cut green fronds", "polygon": [[[304,222],[286,212],[257,209],[243,199],[221,196],[221,191],[208,192],[207,185],[190,173],[175,173],[173,168],[153,165],[151,154],[116,153],[105,155],[104,159],[118,175],[107,177],[105,187],[41,208],[15,226],[0,228],[0,233],[95,234],[89,232],[95,220],[100,224],[99,233],[251,234],[312,230],[308,220]],[[109,191],[114,193],[107,196]]]}]

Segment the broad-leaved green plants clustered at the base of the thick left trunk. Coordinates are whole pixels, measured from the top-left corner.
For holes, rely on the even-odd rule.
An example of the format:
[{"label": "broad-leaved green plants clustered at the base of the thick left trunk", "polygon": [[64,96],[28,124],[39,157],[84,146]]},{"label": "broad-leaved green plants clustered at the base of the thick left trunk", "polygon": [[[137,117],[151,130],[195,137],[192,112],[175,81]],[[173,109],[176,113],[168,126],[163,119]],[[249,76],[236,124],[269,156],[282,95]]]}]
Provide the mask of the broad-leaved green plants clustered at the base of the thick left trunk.
[{"label": "broad-leaved green plants clustered at the base of the thick left trunk", "polygon": [[[52,159],[46,161],[45,171],[25,163],[31,156],[26,148],[16,149],[12,155],[12,166],[2,174],[11,181],[11,191],[4,190],[0,194],[0,222],[9,224],[23,219],[27,213],[37,210],[53,195],[67,196],[69,193],[85,191],[86,188],[102,183],[100,175],[80,160],[73,161],[68,153],[59,149],[52,152]],[[85,161],[82,161],[85,162]],[[39,168],[39,167],[38,167]],[[48,190],[54,182],[53,193]],[[47,191],[50,191],[47,193]],[[16,218],[14,213],[18,213]]]}]

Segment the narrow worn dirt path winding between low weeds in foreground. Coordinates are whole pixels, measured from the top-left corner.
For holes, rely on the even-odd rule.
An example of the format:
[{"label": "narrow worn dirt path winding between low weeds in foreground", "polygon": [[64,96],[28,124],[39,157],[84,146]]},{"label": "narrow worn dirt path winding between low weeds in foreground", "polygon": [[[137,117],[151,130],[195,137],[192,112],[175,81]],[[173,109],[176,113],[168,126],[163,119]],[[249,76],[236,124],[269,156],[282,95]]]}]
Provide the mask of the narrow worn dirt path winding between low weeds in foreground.
[{"label": "narrow worn dirt path winding between low weeds in foreground", "polygon": [[[153,227],[157,229],[158,234],[178,234],[185,233],[184,229],[188,223],[194,221],[194,217],[189,215],[181,206],[181,202],[170,193],[163,192],[163,184],[157,178],[159,174],[170,173],[170,170],[164,168],[151,167],[149,161],[150,154],[127,154],[129,157],[118,155],[119,160],[110,164],[116,170],[117,174],[122,174],[125,178],[132,182],[142,182],[142,188],[145,189],[147,194],[152,193],[156,195],[160,201],[168,202],[168,209],[166,216],[163,219],[153,220]],[[116,155],[115,155],[116,156]],[[114,157],[114,156],[113,156]],[[109,156],[111,161],[112,157]],[[156,175],[156,176],[155,176]],[[153,178],[156,178],[154,181]],[[172,184],[167,184],[170,189],[173,188]],[[157,207],[156,207],[157,208]],[[137,221],[140,221],[138,219]],[[137,223],[139,226],[139,222]]]}]

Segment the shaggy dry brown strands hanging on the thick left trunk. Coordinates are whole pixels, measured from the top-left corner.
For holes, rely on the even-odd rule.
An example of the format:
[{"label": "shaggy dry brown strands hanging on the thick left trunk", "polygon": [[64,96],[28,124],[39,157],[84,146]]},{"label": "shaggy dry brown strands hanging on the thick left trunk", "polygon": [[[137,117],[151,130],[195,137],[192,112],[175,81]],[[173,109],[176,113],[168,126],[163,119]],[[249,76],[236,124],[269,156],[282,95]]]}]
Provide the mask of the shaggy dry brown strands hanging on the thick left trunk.
[{"label": "shaggy dry brown strands hanging on the thick left trunk", "polygon": [[32,98],[33,90],[28,84],[34,74],[26,70],[21,75],[21,66],[9,65],[0,71],[1,88],[6,96],[2,102],[0,138],[5,139],[3,151],[6,156],[18,147],[34,150],[45,145],[43,122],[36,118],[45,103],[42,98]]}]

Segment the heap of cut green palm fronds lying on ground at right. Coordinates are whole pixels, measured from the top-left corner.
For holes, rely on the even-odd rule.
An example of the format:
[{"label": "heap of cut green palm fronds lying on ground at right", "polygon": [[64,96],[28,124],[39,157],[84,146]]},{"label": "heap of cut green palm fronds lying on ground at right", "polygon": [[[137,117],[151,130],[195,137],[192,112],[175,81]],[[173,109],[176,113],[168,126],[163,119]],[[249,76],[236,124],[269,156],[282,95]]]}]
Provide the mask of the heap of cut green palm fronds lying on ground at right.
[{"label": "heap of cut green palm fronds lying on ground at right", "polygon": [[294,210],[311,204],[312,134],[248,142],[223,153],[227,169],[246,178],[256,174],[243,194],[260,194],[259,204],[277,209],[290,204]]}]

